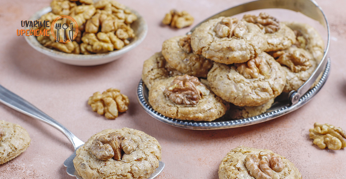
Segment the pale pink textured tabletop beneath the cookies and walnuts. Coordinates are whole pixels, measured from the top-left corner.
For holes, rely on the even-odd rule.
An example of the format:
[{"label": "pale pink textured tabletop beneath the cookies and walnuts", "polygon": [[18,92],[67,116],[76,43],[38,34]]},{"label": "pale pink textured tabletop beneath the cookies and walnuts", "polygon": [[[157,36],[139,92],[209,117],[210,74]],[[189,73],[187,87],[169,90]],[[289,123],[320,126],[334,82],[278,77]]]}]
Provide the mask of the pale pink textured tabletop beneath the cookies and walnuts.
[{"label": "pale pink textured tabletop beneath the cookies and walnuts", "polygon": [[[158,179],[218,178],[218,166],[227,152],[239,145],[266,148],[289,160],[305,179],[345,178],[345,149],[321,150],[312,145],[308,130],[313,123],[330,123],[346,129],[346,1],[318,0],[331,28],[331,72],[325,86],[305,106],[274,120],[234,129],[195,131],[166,125],[140,107],[136,87],[142,64],[161,50],[167,38],[185,34],[190,28],[171,29],[160,24],[172,8],[187,10],[193,25],[242,0],[135,1],[121,0],[142,14],[148,24],[146,39],[136,49],[109,64],[79,67],[56,62],[31,48],[23,36],[16,35],[20,21],[49,6],[50,1],[4,0],[0,6],[0,84],[23,97],[86,141],[106,128],[129,127],[155,137],[162,145],[166,167]],[[284,20],[292,18],[281,13]],[[311,22],[314,23],[314,22]],[[109,87],[129,96],[129,110],[110,120],[92,112],[86,104],[96,91]],[[17,123],[31,137],[29,148],[0,166],[0,179],[72,179],[65,172],[64,160],[73,152],[69,140],[55,128],[0,104],[1,120]]]}]

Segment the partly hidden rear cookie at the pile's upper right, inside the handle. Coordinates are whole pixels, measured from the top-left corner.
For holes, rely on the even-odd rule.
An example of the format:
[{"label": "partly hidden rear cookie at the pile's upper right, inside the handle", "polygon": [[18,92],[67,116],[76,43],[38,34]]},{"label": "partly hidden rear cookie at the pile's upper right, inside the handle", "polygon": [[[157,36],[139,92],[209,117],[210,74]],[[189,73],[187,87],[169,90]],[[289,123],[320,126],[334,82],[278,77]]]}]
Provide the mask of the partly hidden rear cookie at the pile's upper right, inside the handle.
[{"label": "partly hidden rear cookie at the pile's upper right, inside the handle", "polygon": [[317,30],[308,24],[299,22],[284,22],[291,28],[296,36],[297,41],[294,46],[307,50],[312,57],[319,63],[324,54],[324,42]]}]

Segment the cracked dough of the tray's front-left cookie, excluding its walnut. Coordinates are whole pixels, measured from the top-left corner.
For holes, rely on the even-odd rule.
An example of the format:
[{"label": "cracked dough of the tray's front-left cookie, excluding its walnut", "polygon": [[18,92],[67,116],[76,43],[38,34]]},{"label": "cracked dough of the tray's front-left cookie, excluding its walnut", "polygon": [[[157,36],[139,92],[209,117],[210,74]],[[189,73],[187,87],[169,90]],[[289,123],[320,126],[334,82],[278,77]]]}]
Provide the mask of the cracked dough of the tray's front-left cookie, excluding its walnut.
[{"label": "cracked dough of the tray's front-left cookie, excluding its walnut", "polygon": [[[164,116],[181,120],[212,121],[223,116],[228,104],[209,89],[196,105],[176,104],[164,95],[174,77],[157,81],[149,91],[149,104]],[[205,89],[204,89],[205,90]]]}]

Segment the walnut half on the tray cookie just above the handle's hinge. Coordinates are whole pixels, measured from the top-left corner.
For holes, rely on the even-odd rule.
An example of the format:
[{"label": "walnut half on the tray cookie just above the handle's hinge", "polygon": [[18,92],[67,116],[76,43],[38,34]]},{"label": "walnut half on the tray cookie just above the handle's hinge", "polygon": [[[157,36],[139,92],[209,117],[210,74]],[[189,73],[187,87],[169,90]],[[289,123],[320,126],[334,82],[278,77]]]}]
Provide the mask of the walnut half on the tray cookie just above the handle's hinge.
[{"label": "walnut half on the tray cookie just above the handle's hinge", "polygon": [[309,52],[301,48],[290,48],[284,51],[277,51],[272,55],[277,62],[289,67],[294,73],[306,71],[311,66],[310,60],[312,56]]}]

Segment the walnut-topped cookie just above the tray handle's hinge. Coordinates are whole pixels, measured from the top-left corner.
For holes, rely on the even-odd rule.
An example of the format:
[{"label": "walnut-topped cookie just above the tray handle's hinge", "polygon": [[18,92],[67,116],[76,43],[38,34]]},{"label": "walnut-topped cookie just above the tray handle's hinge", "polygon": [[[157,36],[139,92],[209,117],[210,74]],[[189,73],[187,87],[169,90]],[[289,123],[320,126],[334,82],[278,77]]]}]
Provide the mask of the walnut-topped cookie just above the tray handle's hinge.
[{"label": "walnut-topped cookie just above the tray handle's hinge", "polygon": [[312,55],[302,48],[290,47],[286,50],[274,52],[272,56],[286,72],[286,85],[283,92],[297,90],[309,79],[317,67],[317,62],[313,60]]}]

